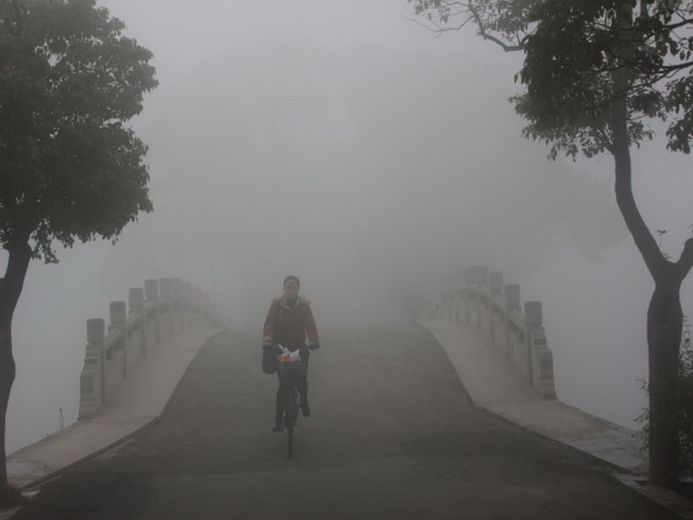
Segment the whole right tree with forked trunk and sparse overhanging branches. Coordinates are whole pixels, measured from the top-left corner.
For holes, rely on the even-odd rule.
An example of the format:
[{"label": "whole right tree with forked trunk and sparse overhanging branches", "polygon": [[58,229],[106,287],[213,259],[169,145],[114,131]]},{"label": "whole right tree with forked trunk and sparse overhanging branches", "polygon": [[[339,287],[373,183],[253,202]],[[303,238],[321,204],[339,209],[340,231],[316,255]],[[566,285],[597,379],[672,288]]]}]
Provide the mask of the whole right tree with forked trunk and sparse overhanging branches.
[{"label": "whole right tree with forked trunk and sparse overhanging branches", "polygon": [[[668,123],[669,150],[693,139],[693,3],[681,0],[409,0],[442,32],[475,24],[486,40],[525,53],[512,99],[525,137],[563,153],[611,154],[615,195],[655,283],[647,312],[649,480],[678,479],[672,396],[683,329],[680,288],[693,266],[693,239],[667,258],[644,223],[631,187],[631,149]],[[453,20],[461,20],[456,26]]]}]

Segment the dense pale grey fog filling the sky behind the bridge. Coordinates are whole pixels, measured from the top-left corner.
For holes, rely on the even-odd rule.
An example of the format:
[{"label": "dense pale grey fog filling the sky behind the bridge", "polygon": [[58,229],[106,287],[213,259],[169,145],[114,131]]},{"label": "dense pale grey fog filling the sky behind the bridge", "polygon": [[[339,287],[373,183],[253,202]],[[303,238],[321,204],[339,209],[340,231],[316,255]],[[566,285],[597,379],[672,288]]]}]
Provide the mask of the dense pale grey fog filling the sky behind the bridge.
[{"label": "dense pale grey fog filling the sky behind the bridge", "polygon": [[[30,266],[9,451],[57,430],[61,409],[76,419],[85,322],[146,278],[192,281],[259,340],[286,275],[319,327],[366,327],[403,323],[413,282],[435,292],[478,264],[543,302],[559,398],[633,427],[653,284],[613,202],[611,159],[549,162],[520,137],[507,102],[519,56],[471,29],[436,38],[405,0],[98,3],[155,54],[161,85],[133,121],[155,211],[116,245]],[[678,257],[689,159],[652,144],[634,164],[643,216]]]}]

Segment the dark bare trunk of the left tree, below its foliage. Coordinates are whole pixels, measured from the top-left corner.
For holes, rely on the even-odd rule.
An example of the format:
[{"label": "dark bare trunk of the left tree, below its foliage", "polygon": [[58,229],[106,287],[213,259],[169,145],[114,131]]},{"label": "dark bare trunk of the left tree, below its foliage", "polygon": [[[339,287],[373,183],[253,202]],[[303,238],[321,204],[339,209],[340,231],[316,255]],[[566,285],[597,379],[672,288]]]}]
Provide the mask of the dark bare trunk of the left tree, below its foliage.
[{"label": "dark bare trunk of the left tree, below its foliage", "polygon": [[0,505],[18,503],[22,496],[10,487],[7,474],[5,446],[7,406],[12,383],[15,381],[15,359],[12,356],[12,315],[24,286],[26,270],[31,259],[28,243],[8,245],[10,257],[5,277],[0,279]]}]

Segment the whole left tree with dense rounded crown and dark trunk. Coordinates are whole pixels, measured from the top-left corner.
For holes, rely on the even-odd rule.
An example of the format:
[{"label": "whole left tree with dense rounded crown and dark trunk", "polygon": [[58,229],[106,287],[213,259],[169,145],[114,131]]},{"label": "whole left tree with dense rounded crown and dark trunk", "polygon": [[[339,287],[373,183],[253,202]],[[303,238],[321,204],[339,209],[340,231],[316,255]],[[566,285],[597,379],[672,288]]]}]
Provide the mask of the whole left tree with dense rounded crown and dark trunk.
[{"label": "whole left tree with dense rounded crown and dark trunk", "polygon": [[12,315],[30,259],[54,243],[114,240],[151,211],[147,147],[125,122],[157,85],[152,54],[95,0],[0,1],[0,502],[15,379]]}]

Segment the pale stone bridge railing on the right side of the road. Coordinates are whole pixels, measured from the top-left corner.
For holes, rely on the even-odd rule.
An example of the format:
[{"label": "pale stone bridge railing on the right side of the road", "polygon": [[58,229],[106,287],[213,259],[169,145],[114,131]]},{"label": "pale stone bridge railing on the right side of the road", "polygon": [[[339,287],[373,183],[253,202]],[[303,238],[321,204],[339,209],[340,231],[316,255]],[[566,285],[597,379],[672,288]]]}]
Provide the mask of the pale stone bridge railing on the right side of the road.
[{"label": "pale stone bridge railing on the right side of the road", "polygon": [[520,286],[503,284],[501,272],[470,266],[444,284],[429,312],[434,320],[476,327],[500,349],[543,399],[556,399],[554,362],[543,327],[541,302],[520,305]]}]

